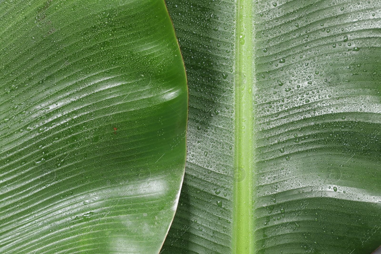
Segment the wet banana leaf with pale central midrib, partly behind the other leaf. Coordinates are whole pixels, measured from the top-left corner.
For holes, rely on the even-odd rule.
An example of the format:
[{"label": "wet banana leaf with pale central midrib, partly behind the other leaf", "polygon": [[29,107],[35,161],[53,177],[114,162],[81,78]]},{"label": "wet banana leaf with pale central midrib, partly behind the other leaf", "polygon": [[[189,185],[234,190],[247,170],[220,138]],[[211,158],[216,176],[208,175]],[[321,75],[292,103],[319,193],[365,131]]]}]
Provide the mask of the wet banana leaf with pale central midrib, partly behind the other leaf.
[{"label": "wet banana leaf with pale central midrib, partly behind the other leaf", "polygon": [[381,245],[381,1],[168,0],[189,87],[166,253]]}]

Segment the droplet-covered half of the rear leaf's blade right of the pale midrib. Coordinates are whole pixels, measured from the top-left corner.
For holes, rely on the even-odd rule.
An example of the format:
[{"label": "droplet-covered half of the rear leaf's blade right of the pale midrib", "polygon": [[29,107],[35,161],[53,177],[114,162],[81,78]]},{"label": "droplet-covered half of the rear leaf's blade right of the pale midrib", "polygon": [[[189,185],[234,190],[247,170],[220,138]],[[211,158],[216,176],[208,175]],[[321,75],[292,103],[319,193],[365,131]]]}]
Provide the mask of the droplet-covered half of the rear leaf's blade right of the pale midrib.
[{"label": "droplet-covered half of the rear leaf's blade right of the pale midrib", "polygon": [[[380,6],[255,4],[256,251],[350,253],[378,225]],[[348,245],[354,221],[369,228]]]}]

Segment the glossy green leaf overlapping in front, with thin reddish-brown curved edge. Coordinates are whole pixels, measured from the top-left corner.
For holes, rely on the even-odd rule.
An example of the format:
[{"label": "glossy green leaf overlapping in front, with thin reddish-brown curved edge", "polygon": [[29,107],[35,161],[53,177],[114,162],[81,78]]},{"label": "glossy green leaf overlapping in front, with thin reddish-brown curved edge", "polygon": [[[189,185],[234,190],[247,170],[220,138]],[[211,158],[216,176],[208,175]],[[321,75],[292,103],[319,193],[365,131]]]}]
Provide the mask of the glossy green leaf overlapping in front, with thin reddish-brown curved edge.
[{"label": "glossy green leaf overlapping in front, with thin reddish-brown curved edge", "polygon": [[0,253],[158,253],[187,86],[159,0],[0,0]]}]

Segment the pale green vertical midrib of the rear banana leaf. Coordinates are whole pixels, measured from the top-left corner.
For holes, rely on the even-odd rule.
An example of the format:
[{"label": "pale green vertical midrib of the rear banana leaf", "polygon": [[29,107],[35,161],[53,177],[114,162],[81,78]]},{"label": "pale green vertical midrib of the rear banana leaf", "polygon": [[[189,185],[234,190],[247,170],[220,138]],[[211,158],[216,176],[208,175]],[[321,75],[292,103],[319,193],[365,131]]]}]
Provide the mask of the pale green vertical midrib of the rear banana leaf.
[{"label": "pale green vertical midrib of the rear banana leaf", "polygon": [[253,248],[253,110],[251,87],[252,0],[237,1],[235,59],[235,183],[233,253],[251,254]]}]

